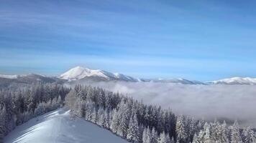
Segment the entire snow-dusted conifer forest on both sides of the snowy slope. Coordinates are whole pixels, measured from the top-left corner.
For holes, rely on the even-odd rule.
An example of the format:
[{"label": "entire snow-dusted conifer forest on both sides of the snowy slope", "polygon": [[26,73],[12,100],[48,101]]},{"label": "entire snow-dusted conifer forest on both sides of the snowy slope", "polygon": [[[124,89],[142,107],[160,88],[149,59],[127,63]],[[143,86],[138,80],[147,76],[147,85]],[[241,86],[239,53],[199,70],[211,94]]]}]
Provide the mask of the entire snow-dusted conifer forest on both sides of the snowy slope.
[{"label": "entire snow-dusted conifer forest on both sides of the snowy slope", "polygon": [[[171,109],[143,104],[132,97],[105,89],[76,85],[35,84],[26,89],[0,92],[0,139],[16,126],[46,112],[68,107],[75,117],[109,129],[135,143],[255,143],[251,127],[206,122]],[[171,107],[171,105],[170,105]]]}]

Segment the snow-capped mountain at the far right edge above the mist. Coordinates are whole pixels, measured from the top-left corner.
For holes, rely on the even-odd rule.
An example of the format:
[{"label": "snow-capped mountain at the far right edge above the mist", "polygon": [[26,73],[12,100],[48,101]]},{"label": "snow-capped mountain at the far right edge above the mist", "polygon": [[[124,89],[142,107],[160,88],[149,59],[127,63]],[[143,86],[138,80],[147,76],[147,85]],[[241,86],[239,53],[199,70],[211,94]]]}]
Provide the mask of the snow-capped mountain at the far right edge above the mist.
[{"label": "snow-capped mountain at the far right edge above the mist", "polygon": [[232,77],[229,79],[220,79],[216,81],[206,82],[206,84],[242,84],[242,85],[256,85],[256,79],[250,77]]}]

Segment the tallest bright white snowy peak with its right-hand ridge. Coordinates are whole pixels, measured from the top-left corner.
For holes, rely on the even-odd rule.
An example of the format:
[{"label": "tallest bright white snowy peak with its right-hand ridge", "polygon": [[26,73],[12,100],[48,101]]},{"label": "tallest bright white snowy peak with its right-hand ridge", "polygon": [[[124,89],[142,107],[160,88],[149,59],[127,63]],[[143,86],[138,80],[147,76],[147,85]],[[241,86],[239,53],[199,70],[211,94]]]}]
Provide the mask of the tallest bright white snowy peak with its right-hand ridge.
[{"label": "tallest bright white snowy peak with its right-hand ridge", "polygon": [[125,82],[138,82],[137,79],[129,77],[124,74],[111,73],[108,71],[103,71],[100,69],[88,69],[82,66],[76,66],[73,69],[66,71],[64,74],[61,74],[60,79],[66,79],[68,81],[76,81],[81,79],[91,79],[95,81],[125,81]]}]

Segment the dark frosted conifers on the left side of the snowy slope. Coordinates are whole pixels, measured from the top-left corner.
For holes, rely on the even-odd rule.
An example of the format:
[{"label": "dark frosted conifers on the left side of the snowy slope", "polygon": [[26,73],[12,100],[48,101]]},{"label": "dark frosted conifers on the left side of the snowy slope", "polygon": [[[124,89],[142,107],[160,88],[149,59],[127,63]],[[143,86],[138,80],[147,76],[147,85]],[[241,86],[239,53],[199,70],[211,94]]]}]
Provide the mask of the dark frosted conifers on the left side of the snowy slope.
[{"label": "dark frosted conifers on the left side of the snowy slope", "polygon": [[70,89],[59,84],[35,84],[0,90],[0,142],[17,125],[63,105]]}]

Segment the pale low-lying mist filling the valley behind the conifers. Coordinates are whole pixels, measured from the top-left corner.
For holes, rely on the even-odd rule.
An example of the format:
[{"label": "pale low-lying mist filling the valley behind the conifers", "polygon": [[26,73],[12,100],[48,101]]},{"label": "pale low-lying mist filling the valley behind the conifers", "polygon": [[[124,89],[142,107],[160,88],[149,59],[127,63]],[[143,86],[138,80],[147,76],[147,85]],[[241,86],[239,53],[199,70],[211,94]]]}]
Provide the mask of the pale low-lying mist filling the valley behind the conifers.
[{"label": "pale low-lying mist filling the valley behind the conifers", "polygon": [[256,86],[185,85],[152,82],[83,82],[121,92],[146,104],[170,107],[196,119],[238,119],[256,127]]}]

